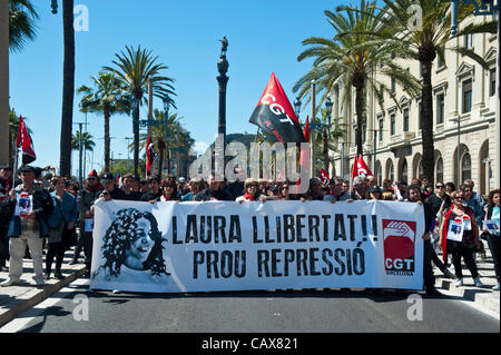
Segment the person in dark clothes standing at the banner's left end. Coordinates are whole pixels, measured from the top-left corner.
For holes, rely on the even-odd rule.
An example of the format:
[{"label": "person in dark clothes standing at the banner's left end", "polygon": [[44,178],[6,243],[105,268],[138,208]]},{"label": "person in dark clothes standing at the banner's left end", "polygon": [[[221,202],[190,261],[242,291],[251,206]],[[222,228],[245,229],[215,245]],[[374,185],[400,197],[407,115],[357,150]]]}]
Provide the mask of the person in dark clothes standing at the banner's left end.
[{"label": "person in dark clothes standing at the banner's left end", "polygon": [[86,256],[87,274],[90,273],[90,258],[92,254],[92,230],[91,225],[94,220],[94,214],[91,207],[94,203],[99,198],[99,194],[102,190],[99,177],[96,170],[90,171],[86,179],[86,188],[80,191],[78,198],[78,214],[80,220],[80,238],[75,249],[73,259],[69,264],[77,264],[81,248]]}]

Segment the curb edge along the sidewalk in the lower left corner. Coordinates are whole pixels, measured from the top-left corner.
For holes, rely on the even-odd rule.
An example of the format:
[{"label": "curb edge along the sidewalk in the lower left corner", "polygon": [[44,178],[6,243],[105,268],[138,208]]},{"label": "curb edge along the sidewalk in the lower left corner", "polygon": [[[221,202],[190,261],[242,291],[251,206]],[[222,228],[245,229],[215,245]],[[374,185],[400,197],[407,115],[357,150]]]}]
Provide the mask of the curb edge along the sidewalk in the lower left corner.
[{"label": "curb edge along the sidewalk in the lower left corner", "polygon": [[28,308],[31,308],[42,300],[49,298],[62,287],[68,286],[73,280],[85,275],[85,273],[86,267],[82,266],[81,268],[76,269],[70,275],[66,276],[63,279],[57,282],[56,284],[45,284],[41,287],[35,287],[33,289],[29,290],[22,296],[24,300],[19,300],[12,308],[0,314],[0,327],[13,321],[17,316],[19,316]]}]

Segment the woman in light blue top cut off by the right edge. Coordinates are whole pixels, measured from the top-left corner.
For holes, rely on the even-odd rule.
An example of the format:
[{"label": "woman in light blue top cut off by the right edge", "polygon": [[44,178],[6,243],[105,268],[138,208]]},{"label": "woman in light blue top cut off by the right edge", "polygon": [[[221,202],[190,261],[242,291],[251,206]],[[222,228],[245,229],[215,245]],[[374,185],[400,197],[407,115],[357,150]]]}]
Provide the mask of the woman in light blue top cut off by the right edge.
[{"label": "woman in light blue top cut off by the right edge", "polygon": [[500,225],[500,189],[489,193],[489,205],[483,221],[483,235],[487,234],[489,249],[491,249],[497,284],[493,290],[499,290],[499,225]]}]

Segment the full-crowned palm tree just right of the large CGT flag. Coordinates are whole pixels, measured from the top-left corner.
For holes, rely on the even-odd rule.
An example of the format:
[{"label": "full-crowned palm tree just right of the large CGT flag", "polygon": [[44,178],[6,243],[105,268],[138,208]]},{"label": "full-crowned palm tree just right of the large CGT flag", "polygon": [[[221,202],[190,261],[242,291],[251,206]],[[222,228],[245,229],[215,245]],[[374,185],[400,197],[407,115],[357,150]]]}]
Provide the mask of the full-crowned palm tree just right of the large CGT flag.
[{"label": "full-crowned palm tree just right of the large CGT flag", "polygon": [[[354,88],[355,142],[357,154],[363,154],[362,128],[365,124],[367,90],[374,90],[380,106],[383,105],[383,92],[391,92],[383,82],[377,80],[377,77],[372,75],[374,70],[380,70],[383,76],[394,77],[411,97],[419,93],[420,82],[410,72],[393,62],[392,56],[397,48],[376,47],[373,43],[374,36],[367,34],[380,30],[375,2],[362,0],[360,11],[355,10],[347,10],[346,13],[324,11],[336,36],[333,39],[311,37],[303,41],[303,46],[313,47],[303,51],[297,60],[302,61],[308,58],[315,58],[315,60],[313,68],[295,83],[293,90],[294,92],[299,91],[299,97],[306,97],[310,95],[311,81],[315,80],[318,92],[323,91],[320,102],[326,99],[335,86],[343,88],[343,102],[351,102],[351,92]],[[381,68],[381,63],[385,66]],[[392,98],[399,106],[396,97],[392,96]]]}]

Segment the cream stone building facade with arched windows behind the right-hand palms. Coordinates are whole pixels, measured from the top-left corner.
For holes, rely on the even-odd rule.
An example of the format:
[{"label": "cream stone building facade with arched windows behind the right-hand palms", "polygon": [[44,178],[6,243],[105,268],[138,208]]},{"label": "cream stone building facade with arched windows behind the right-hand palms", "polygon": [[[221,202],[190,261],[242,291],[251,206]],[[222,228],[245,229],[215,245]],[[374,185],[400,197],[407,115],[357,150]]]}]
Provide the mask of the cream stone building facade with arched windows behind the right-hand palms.
[{"label": "cream stone building facade with arched windows behind the right-hand palms", "polygon": [[[462,27],[484,21],[472,17]],[[434,181],[452,181],[460,186],[472,179],[475,190],[487,195],[499,188],[500,137],[497,131],[497,56],[499,39],[495,34],[463,36],[451,40],[449,47],[473,48],[489,63],[489,70],[470,58],[445,51],[445,60],[436,58],[432,68],[433,125],[434,125]],[[419,61],[401,65],[416,78],[421,76]],[[377,70],[374,71],[377,76]],[[422,140],[420,129],[421,98],[411,98],[391,78],[377,78],[395,91],[399,106],[386,93],[381,108],[373,92],[367,92],[366,126],[364,131],[364,160],[373,170],[379,185],[386,178],[411,183],[422,171]],[[332,93],[333,115],[348,118],[346,140],[332,154],[334,166],[331,176],[348,178],[356,154],[354,102],[342,106],[340,90]],[[336,117],[336,116],[334,116]],[[458,124],[459,118],[459,124]],[[458,134],[459,132],[459,134]],[[459,139],[458,139],[459,138]],[[374,154],[375,152],[375,154]],[[498,157],[494,159],[494,157]],[[375,157],[375,159],[374,159]],[[495,161],[498,160],[498,161]]]}]

